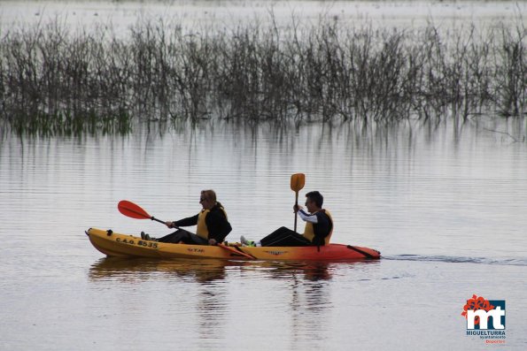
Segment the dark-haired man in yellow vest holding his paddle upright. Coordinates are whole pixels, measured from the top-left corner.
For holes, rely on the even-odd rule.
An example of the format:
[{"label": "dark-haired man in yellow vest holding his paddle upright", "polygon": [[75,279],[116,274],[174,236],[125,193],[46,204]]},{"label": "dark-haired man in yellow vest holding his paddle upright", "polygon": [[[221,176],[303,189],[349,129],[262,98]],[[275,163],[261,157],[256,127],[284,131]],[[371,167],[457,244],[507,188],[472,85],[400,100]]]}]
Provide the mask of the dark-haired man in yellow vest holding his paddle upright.
[{"label": "dark-haired man in yellow vest holding his paddle upright", "polygon": [[333,218],[329,210],[322,209],[324,198],[318,191],[312,191],[306,194],[306,208],[295,205],[293,210],[306,221],[304,234],[300,235],[286,227],[280,227],[275,232],[270,233],[260,241],[253,242],[245,240],[244,236],[240,238],[243,245],[246,246],[323,246],[329,244],[329,238],[333,233]]}]

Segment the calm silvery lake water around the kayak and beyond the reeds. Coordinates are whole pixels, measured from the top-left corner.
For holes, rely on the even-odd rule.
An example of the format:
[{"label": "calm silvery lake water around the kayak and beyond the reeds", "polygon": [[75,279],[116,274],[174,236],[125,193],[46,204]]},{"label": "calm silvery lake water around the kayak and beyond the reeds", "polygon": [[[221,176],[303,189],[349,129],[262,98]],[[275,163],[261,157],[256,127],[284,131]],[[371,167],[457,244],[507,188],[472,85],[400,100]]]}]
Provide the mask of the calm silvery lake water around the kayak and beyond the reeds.
[{"label": "calm silvery lake water around the kayak and beyond the reeds", "polygon": [[[458,3],[353,2],[345,11],[379,23],[425,20],[430,12],[499,19],[515,11],[508,2]],[[146,7],[2,2],[2,25],[35,4],[47,13],[74,8],[82,19],[117,13],[122,26]],[[174,4],[164,8],[180,4],[191,17],[208,6],[216,16],[243,17],[247,3]],[[438,6],[448,11],[432,11]],[[523,11],[525,3],[518,6]],[[524,119],[484,116],[389,127],[142,124],[126,136],[3,129],[0,350],[524,350],[526,135]],[[179,219],[198,213],[199,191],[213,188],[234,228],[228,240],[259,239],[292,227],[290,177],[297,172],[306,174],[300,202],[307,191],[324,195],[335,219],[332,240],[376,248],[381,260],[119,260],[103,256],[84,234],[92,226],[170,233],[122,216],[117,203],[127,199],[160,219]],[[473,294],[506,301],[504,345],[467,335],[461,312]]]}]

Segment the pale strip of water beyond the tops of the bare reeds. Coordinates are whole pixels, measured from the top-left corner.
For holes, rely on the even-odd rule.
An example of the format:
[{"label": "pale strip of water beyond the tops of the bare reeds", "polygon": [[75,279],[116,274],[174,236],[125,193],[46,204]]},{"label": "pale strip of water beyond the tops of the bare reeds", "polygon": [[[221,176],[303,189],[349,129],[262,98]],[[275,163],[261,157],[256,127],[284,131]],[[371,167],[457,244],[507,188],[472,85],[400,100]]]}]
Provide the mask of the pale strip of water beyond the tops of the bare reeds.
[{"label": "pale strip of water beyond the tops of the bare reeds", "polygon": [[[0,29],[43,25],[60,19],[72,28],[103,25],[116,35],[129,34],[138,21],[163,19],[196,31],[204,24],[220,28],[266,23],[271,14],[278,27],[316,24],[321,18],[343,26],[426,27],[430,22],[448,27],[489,27],[512,19],[527,23],[526,2],[518,1],[313,1],[313,0],[160,0],[160,1],[0,1]],[[235,26],[236,27],[236,26]]]}]

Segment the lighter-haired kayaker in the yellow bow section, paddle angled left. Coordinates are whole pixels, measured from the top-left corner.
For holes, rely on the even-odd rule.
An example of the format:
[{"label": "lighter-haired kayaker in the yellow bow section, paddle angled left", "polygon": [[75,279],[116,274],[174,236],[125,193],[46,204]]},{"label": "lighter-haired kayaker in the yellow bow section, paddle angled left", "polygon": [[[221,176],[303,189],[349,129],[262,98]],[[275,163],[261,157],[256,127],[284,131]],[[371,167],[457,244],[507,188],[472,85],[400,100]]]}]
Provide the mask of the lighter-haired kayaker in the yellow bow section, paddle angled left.
[{"label": "lighter-haired kayaker in the yellow bow section, paddle angled left", "polygon": [[[165,222],[169,228],[177,228],[174,233],[162,238],[150,238],[148,234],[141,234],[143,239],[158,240],[159,242],[173,242],[193,245],[216,245],[222,242],[230,233],[232,227],[227,218],[227,212],[220,202],[216,201],[216,193],[213,190],[203,190],[199,197],[199,203],[203,209],[192,217],[178,221]],[[198,225],[196,234],[180,229],[181,226]]]}]

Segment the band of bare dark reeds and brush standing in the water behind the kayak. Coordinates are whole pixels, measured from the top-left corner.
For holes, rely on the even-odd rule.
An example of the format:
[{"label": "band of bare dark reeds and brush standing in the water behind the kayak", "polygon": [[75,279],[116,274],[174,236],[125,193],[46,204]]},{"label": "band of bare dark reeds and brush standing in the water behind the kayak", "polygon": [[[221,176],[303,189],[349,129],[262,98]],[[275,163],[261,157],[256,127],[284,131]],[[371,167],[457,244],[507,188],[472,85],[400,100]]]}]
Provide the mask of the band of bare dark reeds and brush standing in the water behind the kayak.
[{"label": "band of bare dark reeds and brush standing in the water behind the kayak", "polygon": [[[136,121],[277,125],[527,115],[522,19],[462,30],[201,27],[162,19],[0,34],[0,120],[16,133],[127,134]],[[3,128],[4,129],[4,128]]]}]

